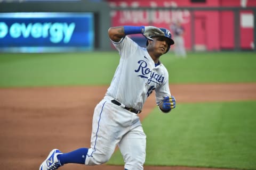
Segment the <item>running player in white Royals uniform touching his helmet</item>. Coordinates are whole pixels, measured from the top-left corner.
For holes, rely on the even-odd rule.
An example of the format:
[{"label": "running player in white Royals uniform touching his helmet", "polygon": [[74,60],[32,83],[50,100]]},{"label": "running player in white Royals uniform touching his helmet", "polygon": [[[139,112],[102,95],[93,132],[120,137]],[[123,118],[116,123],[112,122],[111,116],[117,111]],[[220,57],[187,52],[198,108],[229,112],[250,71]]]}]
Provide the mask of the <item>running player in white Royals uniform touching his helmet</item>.
[{"label": "running player in white Royals uniform touching his helmet", "polygon": [[[146,48],[126,35],[142,33]],[[146,158],[146,135],[138,114],[155,90],[156,104],[168,113],[175,108],[169,89],[169,74],[159,57],[174,44],[171,33],[153,26],[111,27],[109,37],[121,56],[105,97],[95,107],[91,147],[62,153],[53,149],[39,170],[58,169],[68,163],[100,165],[106,163],[119,147],[126,170],[143,169]]]}]

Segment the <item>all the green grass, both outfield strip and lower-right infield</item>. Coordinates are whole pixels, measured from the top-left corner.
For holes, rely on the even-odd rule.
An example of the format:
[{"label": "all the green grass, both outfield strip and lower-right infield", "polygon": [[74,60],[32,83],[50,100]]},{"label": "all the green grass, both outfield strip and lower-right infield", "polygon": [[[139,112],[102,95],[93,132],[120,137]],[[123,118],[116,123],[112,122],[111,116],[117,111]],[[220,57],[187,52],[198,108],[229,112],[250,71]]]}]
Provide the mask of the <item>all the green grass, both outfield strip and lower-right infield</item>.
[{"label": "all the green grass, both outfield strip and lower-right infield", "polygon": [[[185,60],[169,53],[161,60],[170,83],[256,82],[255,53],[191,53]],[[108,85],[118,61],[117,52],[0,54],[0,87]],[[161,116],[156,108],[142,122],[146,165],[256,169],[254,105],[179,104]],[[109,163],[123,160],[117,152]]]}]

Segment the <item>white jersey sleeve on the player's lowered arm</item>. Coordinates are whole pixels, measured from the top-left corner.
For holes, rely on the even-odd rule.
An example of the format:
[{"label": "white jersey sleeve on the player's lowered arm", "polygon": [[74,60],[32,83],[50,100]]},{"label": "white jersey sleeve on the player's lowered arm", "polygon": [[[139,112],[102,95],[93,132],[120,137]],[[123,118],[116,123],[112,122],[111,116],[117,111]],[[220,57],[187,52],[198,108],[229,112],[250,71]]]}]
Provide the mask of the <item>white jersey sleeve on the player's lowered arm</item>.
[{"label": "white jersey sleeve on the player's lowered arm", "polygon": [[163,100],[164,97],[166,96],[171,96],[171,92],[170,92],[170,88],[169,88],[169,75],[167,73],[165,73],[165,81],[161,84],[161,86],[159,86],[158,88],[156,88],[155,92],[156,92],[156,104],[158,105],[160,103],[160,101]]}]

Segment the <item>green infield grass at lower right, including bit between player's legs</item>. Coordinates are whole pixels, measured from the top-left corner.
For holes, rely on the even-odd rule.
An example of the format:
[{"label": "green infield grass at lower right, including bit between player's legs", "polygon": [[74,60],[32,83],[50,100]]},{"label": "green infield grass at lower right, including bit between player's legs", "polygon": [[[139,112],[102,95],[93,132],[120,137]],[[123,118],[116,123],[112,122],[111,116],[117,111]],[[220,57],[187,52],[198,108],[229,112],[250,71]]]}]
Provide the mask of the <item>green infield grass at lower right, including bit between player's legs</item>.
[{"label": "green infield grass at lower right, including bit between player's legs", "polygon": [[[145,165],[256,169],[256,101],[179,104],[145,118]],[[123,165],[120,152],[109,164]]]}]

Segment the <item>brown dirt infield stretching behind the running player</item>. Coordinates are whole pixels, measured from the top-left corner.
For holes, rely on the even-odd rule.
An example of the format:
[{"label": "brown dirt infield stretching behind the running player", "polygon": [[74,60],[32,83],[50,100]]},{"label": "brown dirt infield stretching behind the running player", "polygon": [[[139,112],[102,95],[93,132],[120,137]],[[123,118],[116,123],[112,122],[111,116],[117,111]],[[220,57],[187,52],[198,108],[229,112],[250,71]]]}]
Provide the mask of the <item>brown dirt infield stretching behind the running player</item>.
[{"label": "brown dirt infield stretching behind the running player", "polygon": [[[181,84],[170,86],[178,103],[199,101],[255,100],[256,83]],[[51,87],[0,89],[1,169],[38,169],[49,154],[89,147],[95,105],[107,87]],[[151,95],[143,108],[143,119],[155,106]],[[123,166],[84,166],[67,164],[60,169],[123,169]],[[192,167],[153,167],[152,169],[206,170]]]}]

